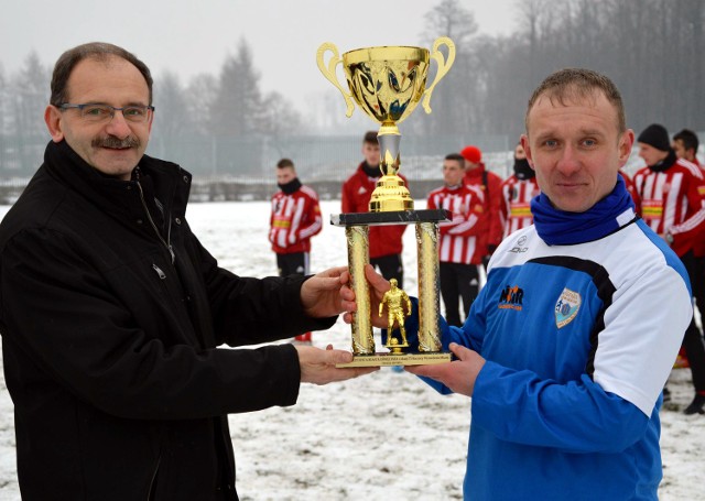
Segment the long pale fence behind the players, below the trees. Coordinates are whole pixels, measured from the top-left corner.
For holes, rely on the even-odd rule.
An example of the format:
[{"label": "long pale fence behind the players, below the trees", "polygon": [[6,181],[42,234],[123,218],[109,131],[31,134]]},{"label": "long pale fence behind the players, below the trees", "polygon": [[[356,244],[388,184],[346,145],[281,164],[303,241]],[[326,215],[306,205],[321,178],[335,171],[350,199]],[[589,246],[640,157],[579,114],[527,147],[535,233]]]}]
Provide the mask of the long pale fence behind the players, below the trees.
[{"label": "long pale fence behind the players, below the trees", "polygon": [[[705,156],[705,132],[701,132],[699,156]],[[48,139],[12,139],[0,135],[0,203],[11,204],[42,163]],[[441,185],[443,157],[465,144],[482,150],[487,167],[502,178],[511,174],[514,139],[507,135],[414,137],[403,135],[401,172],[410,181],[412,197],[425,198]],[[250,137],[184,138],[150,141],[148,154],[180,164],[194,175],[193,202],[268,199],[276,189],[275,165],[282,157],[296,165],[301,181],[322,199],[338,198],[340,184],[362,160],[361,137]],[[705,163],[704,163],[705,164]],[[636,149],[626,171],[640,165]]]}]

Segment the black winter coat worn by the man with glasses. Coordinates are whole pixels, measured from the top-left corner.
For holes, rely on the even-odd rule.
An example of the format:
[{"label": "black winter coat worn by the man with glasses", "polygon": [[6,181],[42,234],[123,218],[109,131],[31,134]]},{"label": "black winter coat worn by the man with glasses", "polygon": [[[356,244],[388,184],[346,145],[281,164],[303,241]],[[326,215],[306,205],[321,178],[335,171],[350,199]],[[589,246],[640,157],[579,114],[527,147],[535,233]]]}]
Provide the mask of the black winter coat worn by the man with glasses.
[{"label": "black winter coat worn by the man with glasses", "polygon": [[303,279],[218,268],[184,217],[187,172],[147,155],[137,172],[105,177],[50,143],[0,225],[25,501],[237,499],[227,414],[294,404],[301,374],[290,345],[216,347],[335,322],[303,314]]}]

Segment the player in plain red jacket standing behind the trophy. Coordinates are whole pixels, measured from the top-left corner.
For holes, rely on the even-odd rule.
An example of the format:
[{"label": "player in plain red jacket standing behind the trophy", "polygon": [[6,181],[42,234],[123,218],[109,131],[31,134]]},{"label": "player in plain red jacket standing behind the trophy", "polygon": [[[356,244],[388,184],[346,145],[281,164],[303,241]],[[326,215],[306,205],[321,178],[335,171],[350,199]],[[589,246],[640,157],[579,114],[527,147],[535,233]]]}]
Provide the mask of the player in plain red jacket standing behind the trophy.
[{"label": "player in plain red jacket standing behind the trophy", "polygon": [[[343,184],[341,211],[369,213],[370,198],[382,176],[380,168],[379,143],[377,132],[369,131],[362,139],[362,156],[365,160],[355,173]],[[399,174],[406,187],[409,182]],[[406,225],[370,226],[369,251],[370,264],[379,269],[387,280],[397,279],[399,288],[404,284],[404,266],[401,259],[402,237]]]}]

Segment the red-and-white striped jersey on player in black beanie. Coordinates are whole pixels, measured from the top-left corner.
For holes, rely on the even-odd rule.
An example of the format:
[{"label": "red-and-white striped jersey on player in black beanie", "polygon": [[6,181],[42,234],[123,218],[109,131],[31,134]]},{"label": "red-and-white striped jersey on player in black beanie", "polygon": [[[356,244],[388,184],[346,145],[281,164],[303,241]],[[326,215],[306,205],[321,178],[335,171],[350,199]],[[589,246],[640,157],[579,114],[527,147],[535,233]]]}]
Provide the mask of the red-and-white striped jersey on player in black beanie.
[{"label": "red-and-white striped jersey on player in black beanie", "polygon": [[673,237],[671,248],[680,257],[695,250],[705,232],[705,179],[697,165],[679,159],[663,172],[639,170],[634,188],[641,199],[641,217],[659,235]]}]

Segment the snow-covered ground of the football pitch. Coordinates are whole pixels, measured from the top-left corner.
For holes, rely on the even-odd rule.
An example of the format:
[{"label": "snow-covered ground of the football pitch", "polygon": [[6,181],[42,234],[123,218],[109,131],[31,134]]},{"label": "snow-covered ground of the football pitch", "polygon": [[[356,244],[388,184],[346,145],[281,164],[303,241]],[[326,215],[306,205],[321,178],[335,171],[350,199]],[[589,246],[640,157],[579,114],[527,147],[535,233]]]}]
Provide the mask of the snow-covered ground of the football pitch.
[{"label": "snow-covered ground of the football pitch", "polygon": [[[416,202],[416,208],[423,204]],[[324,219],[339,202],[322,203]],[[0,207],[0,216],[7,207]],[[269,204],[189,206],[187,219],[220,264],[240,275],[275,274],[267,229]],[[405,290],[415,295],[415,242],[404,236]],[[312,271],[346,263],[344,230],[325,226],[313,240]],[[314,345],[349,349],[341,320]],[[379,339],[378,339],[379,346]],[[705,498],[705,416],[680,411],[692,399],[688,370],[674,370],[672,410],[662,416],[664,479],[660,499]],[[442,396],[415,377],[382,369],[326,386],[303,385],[293,407],[230,416],[243,501],[462,499],[470,401]],[[0,388],[0,501],[19,500],[12,402]]]}]

